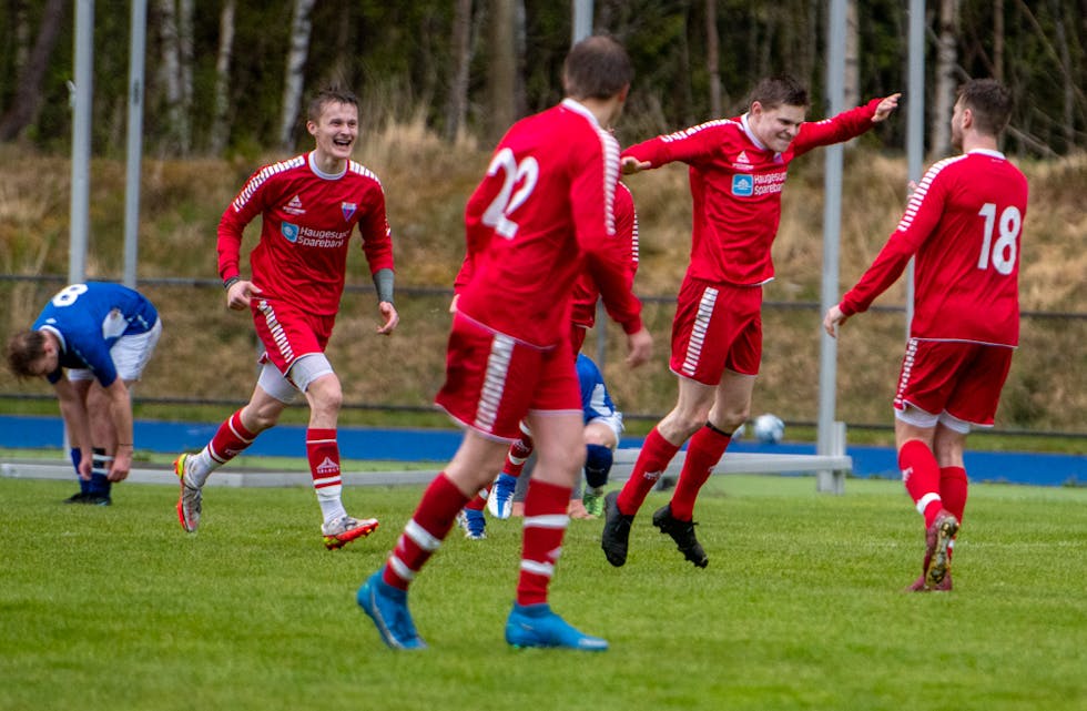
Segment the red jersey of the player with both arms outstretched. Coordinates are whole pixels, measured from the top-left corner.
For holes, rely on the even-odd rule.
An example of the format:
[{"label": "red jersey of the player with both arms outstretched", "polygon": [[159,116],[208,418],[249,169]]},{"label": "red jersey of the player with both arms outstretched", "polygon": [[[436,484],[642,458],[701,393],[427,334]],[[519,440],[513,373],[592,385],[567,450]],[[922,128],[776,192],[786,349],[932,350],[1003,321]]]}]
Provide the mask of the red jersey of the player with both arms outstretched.
[{"label": "red jersey of the player with both arms outstretched", "polygon": [[765,148],[744,114],[650,139],[622,156],[648,161],[652,167],[672,161],[690,165],[694,224],[688,276],[755,286],[774,276],[770,248],[781,221],[789,163],[820,145],[864,133],[878,105],[873,99],[834,118],[802,123],[784,153]]}]

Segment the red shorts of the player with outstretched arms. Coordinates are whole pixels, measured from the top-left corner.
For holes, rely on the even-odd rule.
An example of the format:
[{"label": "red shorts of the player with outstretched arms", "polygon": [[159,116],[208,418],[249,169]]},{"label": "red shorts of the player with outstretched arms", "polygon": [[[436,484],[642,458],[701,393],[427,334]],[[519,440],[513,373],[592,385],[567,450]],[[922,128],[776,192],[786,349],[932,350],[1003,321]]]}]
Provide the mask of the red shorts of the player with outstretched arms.
[{"label": "red shorts of the player with outstretched arms", "polygon": [[758,375],[762,359],[762,287],[687,277],[672,322],[672,373],[717,386],[725,368]]}]

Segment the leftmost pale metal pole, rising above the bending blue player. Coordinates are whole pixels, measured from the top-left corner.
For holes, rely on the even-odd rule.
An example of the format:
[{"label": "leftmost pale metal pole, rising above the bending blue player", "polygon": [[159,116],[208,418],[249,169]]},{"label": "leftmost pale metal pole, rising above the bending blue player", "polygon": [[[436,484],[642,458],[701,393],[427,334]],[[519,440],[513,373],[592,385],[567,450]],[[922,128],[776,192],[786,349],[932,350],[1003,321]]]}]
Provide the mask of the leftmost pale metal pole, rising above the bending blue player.
[{"label": "leftmost pale metal pole, rising above the bending blue player", "polygon": [[91,108],[94,77],[94,0],[75,3],[75,85],[72,88],[72,200],[68,283],[87,278],[90,224]]}]

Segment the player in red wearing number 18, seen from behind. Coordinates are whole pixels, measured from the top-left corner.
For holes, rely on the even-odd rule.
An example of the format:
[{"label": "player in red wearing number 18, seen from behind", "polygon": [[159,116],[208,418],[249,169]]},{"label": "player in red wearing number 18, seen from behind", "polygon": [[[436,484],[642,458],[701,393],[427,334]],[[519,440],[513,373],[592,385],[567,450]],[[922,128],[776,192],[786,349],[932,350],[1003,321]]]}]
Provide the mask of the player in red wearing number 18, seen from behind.
[{"label": "player in red wearing number 18, seen from behind", "polygon": [[832,336],[916,255],[914,316],[894,398],[906,491],[925,521],[921,577],[910,590],[951,590],[951,558],[966,508],[963,463],[972,427],[992,427],[1019,338],[1019,243],[1027,181],[997,148],[1012,95],[996,80],[958,90],[952,144],[861,281],[826,312]]}]

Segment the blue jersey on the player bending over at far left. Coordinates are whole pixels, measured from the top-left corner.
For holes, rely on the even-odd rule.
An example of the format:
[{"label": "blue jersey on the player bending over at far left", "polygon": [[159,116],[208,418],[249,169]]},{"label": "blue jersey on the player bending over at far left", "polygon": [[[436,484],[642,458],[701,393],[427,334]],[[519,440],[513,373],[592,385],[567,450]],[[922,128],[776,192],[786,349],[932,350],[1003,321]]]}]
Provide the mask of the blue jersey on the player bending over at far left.
[{"label": "blue jersey on the player bending over at far left", "polygon": [[60,341],[57,369],[45,377],[57,383],[62,368],[87,368],[102,387],[116,379],[110,348],[121,336],[150,331],[159,312],[142,294],[120,284],[71,284],[42,309],[34,331],[48,331]]}]

